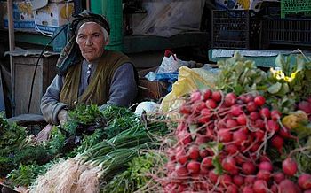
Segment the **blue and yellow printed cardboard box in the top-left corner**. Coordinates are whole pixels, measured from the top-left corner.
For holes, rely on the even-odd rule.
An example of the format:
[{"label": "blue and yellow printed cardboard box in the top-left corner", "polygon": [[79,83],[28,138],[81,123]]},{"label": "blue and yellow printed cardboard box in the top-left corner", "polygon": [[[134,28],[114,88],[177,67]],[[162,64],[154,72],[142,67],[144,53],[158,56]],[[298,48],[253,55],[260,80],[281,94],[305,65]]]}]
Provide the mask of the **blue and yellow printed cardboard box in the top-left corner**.
[{"label": "blue and yellow printed cardboard box in the top-left corner", "polygon": [[[35,31],[35,19],[30,2],[14,1],[13,4],[14,29],[26,29]],[[2,13],[2,27],[8,27],[7,3],[0,2]]]}]

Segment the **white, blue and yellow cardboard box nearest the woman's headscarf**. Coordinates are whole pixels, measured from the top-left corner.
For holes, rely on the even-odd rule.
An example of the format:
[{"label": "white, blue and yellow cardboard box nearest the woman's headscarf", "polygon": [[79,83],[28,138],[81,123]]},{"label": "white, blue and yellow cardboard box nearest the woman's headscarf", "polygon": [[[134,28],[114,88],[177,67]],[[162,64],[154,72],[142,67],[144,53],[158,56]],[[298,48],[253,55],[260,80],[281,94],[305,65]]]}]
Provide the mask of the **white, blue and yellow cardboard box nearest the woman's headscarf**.
[{"label": "white, blue and yellow cardboard box nearest the woman's headscarf", "polygon": [[57,28],[72,20],[74,3],[49,3],[47,6],[36,10],[36,25],[42,32],[52,35]]}]

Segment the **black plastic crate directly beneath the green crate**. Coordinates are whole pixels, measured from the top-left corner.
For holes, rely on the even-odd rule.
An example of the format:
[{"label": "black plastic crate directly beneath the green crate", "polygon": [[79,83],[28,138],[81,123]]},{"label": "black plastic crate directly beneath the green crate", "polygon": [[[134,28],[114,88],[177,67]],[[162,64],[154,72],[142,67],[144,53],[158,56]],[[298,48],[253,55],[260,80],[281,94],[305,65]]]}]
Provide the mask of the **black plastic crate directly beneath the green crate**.
[{"label": "black plastic crate directly beneath the green crate", "polygon": [[261,48],[271,45],[311,47],[311,19],[261,19]]}]

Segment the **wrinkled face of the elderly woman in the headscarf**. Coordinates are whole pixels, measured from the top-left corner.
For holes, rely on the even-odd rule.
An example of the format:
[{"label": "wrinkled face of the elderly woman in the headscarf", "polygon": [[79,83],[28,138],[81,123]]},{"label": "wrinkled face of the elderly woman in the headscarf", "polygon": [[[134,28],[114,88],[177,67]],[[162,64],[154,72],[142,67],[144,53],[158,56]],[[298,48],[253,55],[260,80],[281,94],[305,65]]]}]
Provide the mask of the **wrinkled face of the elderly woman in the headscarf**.
[{"label": "wrinkled face of the elderly woman in the headscarf", "polygon": [[103,28],[97,23],[84,23],[76,35],[76,43],[79,45],[82,56],[92,62],[102,55],[108,38],[105,38]]}]

